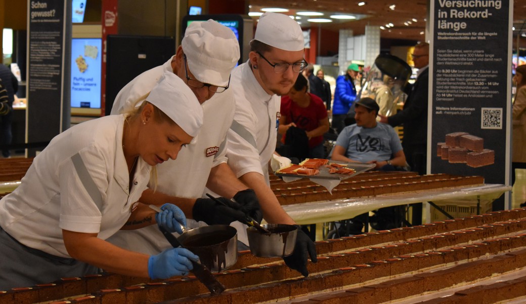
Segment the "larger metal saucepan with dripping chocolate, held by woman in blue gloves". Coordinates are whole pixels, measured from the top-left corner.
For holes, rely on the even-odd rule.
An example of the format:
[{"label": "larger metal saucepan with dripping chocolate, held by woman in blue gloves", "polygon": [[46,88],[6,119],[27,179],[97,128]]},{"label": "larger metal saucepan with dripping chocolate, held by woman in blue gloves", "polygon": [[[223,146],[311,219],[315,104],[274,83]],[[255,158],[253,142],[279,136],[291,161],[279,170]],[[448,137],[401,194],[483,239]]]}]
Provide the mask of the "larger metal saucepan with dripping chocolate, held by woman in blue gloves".
[{"label": "larger metal saucepan with dripping chocolate, held by woman in blue gloves", "polygon": [[[155,205],[150,208],[162,212]],[[177,240],[183,247],[199,256],[201,264],[210,271],[219,272],[237,262],[237,230],[229,225],[210,225],[187,229],[179,223],[183,234]]]}]

